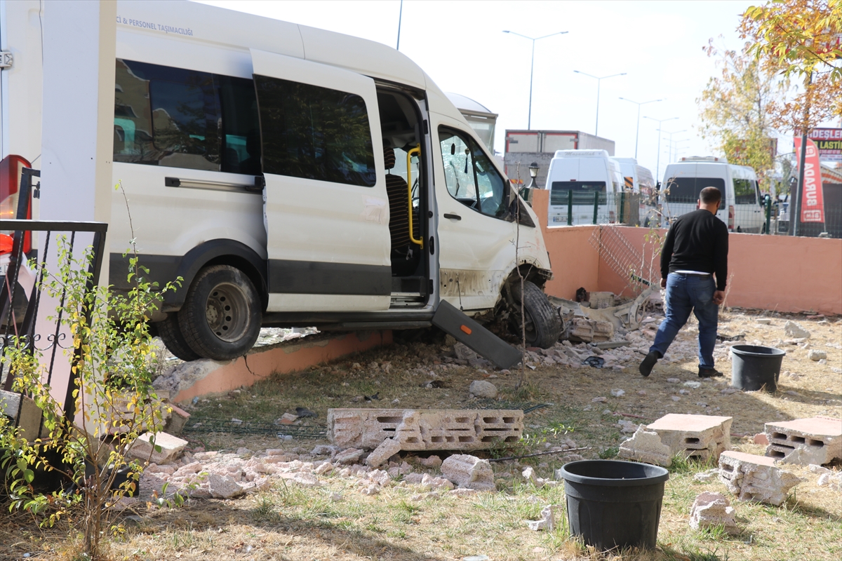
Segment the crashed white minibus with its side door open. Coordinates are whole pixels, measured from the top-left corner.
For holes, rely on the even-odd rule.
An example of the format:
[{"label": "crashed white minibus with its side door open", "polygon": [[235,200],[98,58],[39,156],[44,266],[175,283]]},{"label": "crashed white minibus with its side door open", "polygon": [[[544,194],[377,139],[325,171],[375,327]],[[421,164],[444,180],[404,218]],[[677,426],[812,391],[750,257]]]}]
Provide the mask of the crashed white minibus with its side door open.
[{"label": "crashed white minibus with its side door open", "polygon": [[[2,151],[29,164],[50,8],[4,8]],[[240,356],[261,325],[423,327],[442,301],[490,317],[523,300],[527,343],[557,341],[536,215],[407,56],[200,3],[117,10],[113,179],[151,279],[184,278],[152,318],[176,356]],[[128,288],[120,193],[111,217],[110,282]]]}]

